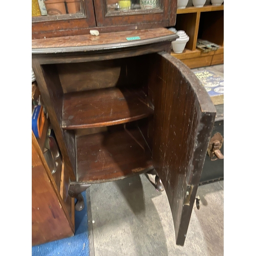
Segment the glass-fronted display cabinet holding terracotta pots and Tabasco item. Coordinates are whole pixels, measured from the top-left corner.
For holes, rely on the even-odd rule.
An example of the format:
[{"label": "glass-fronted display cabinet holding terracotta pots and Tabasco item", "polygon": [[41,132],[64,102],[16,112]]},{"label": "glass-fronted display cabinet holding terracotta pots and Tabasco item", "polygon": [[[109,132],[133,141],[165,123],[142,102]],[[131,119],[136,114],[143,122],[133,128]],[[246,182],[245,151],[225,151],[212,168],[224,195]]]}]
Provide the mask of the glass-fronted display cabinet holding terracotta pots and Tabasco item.
[{"label": "glass-fronted display cabinet holding terracotta pots and Tabasco item", "polygon": [[176,0],[32,0],[32,39],[169,27]]}]

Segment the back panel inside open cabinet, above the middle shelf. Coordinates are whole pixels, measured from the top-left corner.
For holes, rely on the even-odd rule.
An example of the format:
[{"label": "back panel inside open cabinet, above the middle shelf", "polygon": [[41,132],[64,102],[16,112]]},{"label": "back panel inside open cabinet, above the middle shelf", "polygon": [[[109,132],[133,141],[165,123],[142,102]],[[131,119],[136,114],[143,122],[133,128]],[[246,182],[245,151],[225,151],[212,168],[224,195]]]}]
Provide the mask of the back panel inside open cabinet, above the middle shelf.
[{"label": "back panel inside open cabinet, above the middle shelf", "polygon": [[113,60],[56,64],[63,93],[111,87],[143,88],[147,92],[148,65],[141,56]]}]

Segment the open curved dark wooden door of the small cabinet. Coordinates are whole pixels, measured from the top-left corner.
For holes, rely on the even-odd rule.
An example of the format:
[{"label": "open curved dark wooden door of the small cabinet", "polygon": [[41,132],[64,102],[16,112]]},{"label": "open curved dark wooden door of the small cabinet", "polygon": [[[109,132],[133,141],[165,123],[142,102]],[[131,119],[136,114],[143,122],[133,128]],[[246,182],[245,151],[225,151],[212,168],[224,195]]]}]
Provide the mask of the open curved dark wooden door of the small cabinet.
[{"label": "open curved dark wooden door of the small cabinet", "polygon": [[216,109],[180,60],[168,53],[152,57],[148,93],[155,106],[153,165],[172,210],[176,244],[184,245]]}]

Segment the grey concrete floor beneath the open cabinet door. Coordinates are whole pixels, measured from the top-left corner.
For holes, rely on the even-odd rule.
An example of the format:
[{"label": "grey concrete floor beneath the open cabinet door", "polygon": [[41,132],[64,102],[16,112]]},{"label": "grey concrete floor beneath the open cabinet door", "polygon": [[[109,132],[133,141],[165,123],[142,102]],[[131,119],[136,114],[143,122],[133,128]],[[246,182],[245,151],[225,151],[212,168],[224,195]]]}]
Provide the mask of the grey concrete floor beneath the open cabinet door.
[{"label": "grey concrete floor beneath the open cabinet door", "polygon": [[156,191],[153,178],[142,174],[90,187],[92,255],[223,255],[224,181],[199,186],[201,207],[194,205],[182,247],[175,243],[166,193]]}]

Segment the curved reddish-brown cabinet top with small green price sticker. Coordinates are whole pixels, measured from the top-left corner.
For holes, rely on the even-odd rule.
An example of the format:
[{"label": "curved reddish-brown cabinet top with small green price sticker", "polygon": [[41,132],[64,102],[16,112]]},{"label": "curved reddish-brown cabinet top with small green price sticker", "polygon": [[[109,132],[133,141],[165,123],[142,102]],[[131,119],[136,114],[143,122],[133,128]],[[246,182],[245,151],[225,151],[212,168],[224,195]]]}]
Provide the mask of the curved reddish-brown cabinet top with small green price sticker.
[{"label": "curved reddish-brown cabinet top with small green price sticker", "polygon": [[[128,40],[127,37],[140,37]],[[32,54],[81,52],[141,46],[172,41],[178,36],[166,28],[102,33],[98,36],[77,35],[32,40]]]}]

